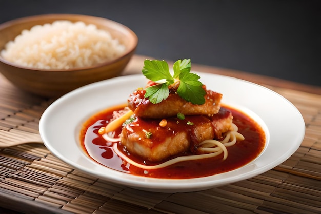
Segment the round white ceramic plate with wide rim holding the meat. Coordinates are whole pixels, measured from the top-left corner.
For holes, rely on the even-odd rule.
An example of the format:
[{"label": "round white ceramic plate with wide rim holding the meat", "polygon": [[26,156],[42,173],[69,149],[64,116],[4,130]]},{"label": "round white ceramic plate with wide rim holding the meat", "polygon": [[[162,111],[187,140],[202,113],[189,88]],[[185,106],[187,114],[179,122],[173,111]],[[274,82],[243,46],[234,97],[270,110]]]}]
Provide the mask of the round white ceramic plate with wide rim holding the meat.
[{"label": "round white ceramic plate with wide rim holding the meat", "polygon": [[245,111],[264,128],[266,147],[246,166],[204,178],[156,179],[119,172],[87,157],[79,143],[81,125],[98,111],[126,102],[134,89],[145,86],[147,80],[142,74],[93,83],[62,96],[42,115],[41,137],[52,154],[75,169],[117,184],[158,192],[198,191],[245,180],[279,165],[297,150],[304,138],[305,123],[283,96],[232,77],[198,74],[208,89],[223,94],[223,103]]}]

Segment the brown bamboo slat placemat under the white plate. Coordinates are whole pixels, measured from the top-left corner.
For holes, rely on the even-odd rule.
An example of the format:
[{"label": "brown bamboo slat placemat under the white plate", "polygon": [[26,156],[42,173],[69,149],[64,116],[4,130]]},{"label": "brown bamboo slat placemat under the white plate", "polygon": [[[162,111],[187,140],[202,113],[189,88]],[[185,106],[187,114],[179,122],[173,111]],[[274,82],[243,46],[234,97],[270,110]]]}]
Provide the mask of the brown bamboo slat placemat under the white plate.
[{"label": "brown bamboo slat placemat under the white plate", "polygon": [[[24,213],[321,213],[321,95],[272,90],[303,114],[306,135],[292,157],[259,176],[198,192],[147,192],[88,176],[44,145],[28,144],[0,149],[0,206]],[[0,142],[33,139],[52,102],[0,76]]]}]

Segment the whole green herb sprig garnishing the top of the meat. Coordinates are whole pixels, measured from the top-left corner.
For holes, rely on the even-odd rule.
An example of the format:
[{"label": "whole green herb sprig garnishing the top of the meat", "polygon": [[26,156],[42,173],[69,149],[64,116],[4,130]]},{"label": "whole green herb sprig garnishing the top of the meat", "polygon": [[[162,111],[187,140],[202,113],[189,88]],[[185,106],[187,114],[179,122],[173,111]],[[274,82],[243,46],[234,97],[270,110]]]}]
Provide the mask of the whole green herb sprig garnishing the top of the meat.
[{"label": "whole green herb sprig garnishing the top of the meat", "polygon": [[174,74],[169,71],[166,61],[145,60],[142,73],[156,85],[146,88],[145,98],[153,104],[157,104],[168,98],[168,86],[180,81],[177,88],[178,95],[192,104],[202,105],[205,103],[205,90],[203,84],[198,80],[200,76],[191,73],[191,60],[177,60],[173,65]]}]

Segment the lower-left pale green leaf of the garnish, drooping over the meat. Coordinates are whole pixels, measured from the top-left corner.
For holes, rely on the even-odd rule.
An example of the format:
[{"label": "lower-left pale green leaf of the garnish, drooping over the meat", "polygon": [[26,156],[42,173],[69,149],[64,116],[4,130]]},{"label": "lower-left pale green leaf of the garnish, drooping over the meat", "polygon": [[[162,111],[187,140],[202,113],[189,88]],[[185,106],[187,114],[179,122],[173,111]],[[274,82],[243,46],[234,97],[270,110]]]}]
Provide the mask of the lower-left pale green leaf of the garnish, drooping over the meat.
[{"label": "lower-left pale green leaf of the garnish, drooping over the meat", "polygon": [[166,84],[153,85],[146,88],[145,98],[153,104],[157,104],[168,98],[169,89]]}]

